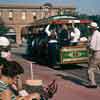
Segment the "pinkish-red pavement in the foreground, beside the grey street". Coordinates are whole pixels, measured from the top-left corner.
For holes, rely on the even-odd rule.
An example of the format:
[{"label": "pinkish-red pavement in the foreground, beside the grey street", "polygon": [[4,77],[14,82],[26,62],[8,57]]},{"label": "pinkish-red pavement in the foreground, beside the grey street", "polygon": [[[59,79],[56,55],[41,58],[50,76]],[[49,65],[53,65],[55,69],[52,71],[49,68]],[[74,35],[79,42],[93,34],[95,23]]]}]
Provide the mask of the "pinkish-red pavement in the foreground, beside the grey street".
[{"label": "pinkish-red pavement in the foreground, beside the grey street", "polygon": [[[29,68],[29,63],[26,60],[22,60],[21,64],[24,66],[25,71],[30,74],[29,70],[25,68],[26,65]],[[69,80],[69,78],[72,78],[70,75],[66,74],[64,76],[59,71],[38,64],[33,64],[33,74],[33,78],[43,80],[44,85],[56,79],[58,91],[50,100],[100,100],[100,88],[88,89],[82,85],[75,84]]]}]

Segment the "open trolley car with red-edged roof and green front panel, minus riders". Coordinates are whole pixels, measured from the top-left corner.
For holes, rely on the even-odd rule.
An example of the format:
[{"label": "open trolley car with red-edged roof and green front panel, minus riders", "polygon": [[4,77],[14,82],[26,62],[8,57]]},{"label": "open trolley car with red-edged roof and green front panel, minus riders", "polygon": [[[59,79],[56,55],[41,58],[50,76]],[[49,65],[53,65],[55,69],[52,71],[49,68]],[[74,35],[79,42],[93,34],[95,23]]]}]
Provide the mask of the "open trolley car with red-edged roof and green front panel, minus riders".
[{"label": "open trolley car with red-edged roof and green front panel, minus riders", "polygon": [[[58,30],[60,29],[62,25],[73,26],[76,24],[78,25],[81,31],[81,34],[82,34],[81,37],[88,38],[88,33],[89,33],[88,25],[90,24],[90,22],[91,22],[90,20],[80,20],[72,16],[64,16],[64,15],[63,16],[52,16],[49,18],[38,20],[35,23],[32,23],[31,29],[32,29],[33,34],[36,34],[37,30],[38,30],[37,34],[39,34],[41,29],[43,29],[42,31],[45,32],[45,28],[48,25],[50,25],[51,28],[53,27],[57,30],[58,46],[57,46],[57,62],[56,63],[59,63],[59,64],[84,63],[84,62],[88,62],[88,55],[89,55],[88,50],[87,50],[88,41],[79,41],[79,43],[75,46],[63,45],[62,43],[60,43],[61,39],[59,37]],[[64,37],[63,34],[60,34],[60,35],[61,37]],[[39,43],[43,40],[46,40],[46,39],[44,37],[41,38]],[[47,52],[46,50],[48,50],[47,45],[46,45],[46,48],[42,50],[42,52]],[[37,51],[40,52],[40,49],[37,49]],[[48,53],[45,56],[47,56],[48,58]],[[40,58],[42,57],[43,59],[44,56],[42,55],[38,57]]]}]

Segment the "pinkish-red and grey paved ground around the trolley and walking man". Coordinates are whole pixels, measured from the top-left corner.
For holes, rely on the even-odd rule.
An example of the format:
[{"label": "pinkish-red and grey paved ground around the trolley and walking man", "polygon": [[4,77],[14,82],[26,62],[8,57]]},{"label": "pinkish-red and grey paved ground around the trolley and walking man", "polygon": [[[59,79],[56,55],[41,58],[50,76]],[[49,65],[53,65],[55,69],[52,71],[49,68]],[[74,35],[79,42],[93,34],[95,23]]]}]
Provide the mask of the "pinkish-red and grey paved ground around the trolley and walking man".
[{"label": "pinkish-red and grey paved ground around the trolley and walking man", "polygon": [[[22,54],[25,54],[25,48],[13,48],[12,52],[15,54],[15,59],[23,65],[25,73],[27,73],[25,78],[29,78],[30,62],[21,56]],[[55,70],[48,68],[47,66],[33,64],[33,78],[42,79],[44,85],[47,85],[53,79],[56,79],[58,91],[52,100],[99,100],[100,88],[88,89],[84,86],[84,84],[87,83],[87,67],[74,65],[75,68],[73,68],[71,65],[67,66],[68,68],[64,66],[64,69]],[[99,79],[98,75],[97,80]]]}]

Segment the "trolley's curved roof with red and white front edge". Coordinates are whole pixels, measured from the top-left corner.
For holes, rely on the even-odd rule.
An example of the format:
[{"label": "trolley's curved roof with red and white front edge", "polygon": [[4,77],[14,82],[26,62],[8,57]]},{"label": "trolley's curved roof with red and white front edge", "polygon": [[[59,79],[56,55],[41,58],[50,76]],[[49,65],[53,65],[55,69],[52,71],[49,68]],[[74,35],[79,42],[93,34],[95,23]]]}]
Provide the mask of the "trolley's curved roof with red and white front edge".
[{"label": "trolley's curved roof with red and white front edge", "polygon": [[37,20],[31,25],[33,27],[47,25],[47,24],[70,24],[70,23],[90,23],[90,20],[77,19],[76,17],[60,15],[60,16],[51,16],[41,20]]}]

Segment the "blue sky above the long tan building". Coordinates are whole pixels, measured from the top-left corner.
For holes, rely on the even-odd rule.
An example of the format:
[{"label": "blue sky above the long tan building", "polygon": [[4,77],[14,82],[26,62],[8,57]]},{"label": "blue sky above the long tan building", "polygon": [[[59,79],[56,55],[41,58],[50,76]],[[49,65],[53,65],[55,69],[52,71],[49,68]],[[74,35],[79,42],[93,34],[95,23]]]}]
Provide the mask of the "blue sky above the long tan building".
[{"label": "blue sky above the long tan building", "polygon": [[86,14],[100,15],[100,0],[0,0],[1,3],[22,3],[22,4],[44,4],[46,2],[52,5],[74,5],[77,11]]}]

